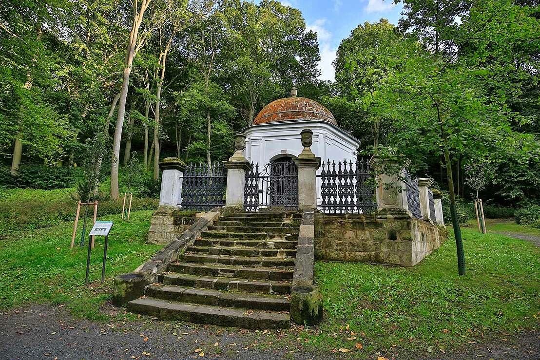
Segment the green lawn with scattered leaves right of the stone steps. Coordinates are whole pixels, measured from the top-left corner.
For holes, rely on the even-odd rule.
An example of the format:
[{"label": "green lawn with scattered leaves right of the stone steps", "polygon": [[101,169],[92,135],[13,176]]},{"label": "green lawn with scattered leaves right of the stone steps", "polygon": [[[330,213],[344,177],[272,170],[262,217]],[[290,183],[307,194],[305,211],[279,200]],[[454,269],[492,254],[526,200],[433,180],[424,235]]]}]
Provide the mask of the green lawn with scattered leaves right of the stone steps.
[{"label": "green lawn with scattered leaves right of the stone steps", "polygon": [[[537,326],[540,250],[504,235],[462,231],[465,276],[457,275],[453,238],[414,268],[316,262],[325,321],[298,336],[308,339],[307,346],[361,356],[382,349],[444,350],[494,331]],[[350,331],[357,335],[349,341]]]}]

